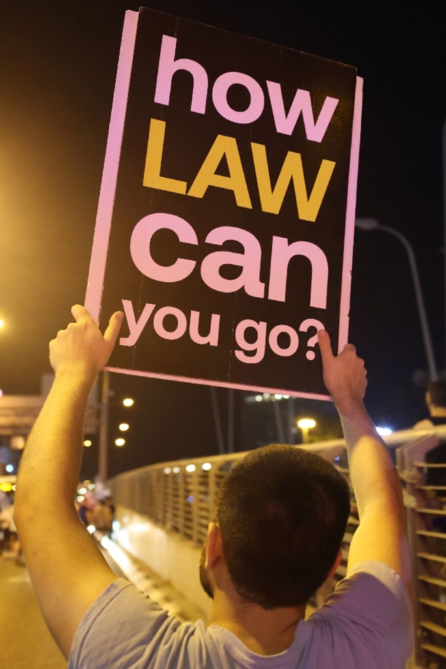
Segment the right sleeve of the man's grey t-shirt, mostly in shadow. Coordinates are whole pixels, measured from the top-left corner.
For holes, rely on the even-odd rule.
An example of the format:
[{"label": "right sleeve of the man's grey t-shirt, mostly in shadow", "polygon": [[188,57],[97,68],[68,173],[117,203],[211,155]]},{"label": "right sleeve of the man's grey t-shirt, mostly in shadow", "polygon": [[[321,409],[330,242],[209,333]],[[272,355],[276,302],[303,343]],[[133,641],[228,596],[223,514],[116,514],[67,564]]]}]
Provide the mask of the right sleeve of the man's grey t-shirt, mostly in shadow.
[{"label": "right sleeve of the man's grey t-shirt, mostly in shadow", "polygon": [[400,576],[384,563],[355,565],[313,618],[349,646],[358,667],[404,669],[413,652],[411,599]]}]

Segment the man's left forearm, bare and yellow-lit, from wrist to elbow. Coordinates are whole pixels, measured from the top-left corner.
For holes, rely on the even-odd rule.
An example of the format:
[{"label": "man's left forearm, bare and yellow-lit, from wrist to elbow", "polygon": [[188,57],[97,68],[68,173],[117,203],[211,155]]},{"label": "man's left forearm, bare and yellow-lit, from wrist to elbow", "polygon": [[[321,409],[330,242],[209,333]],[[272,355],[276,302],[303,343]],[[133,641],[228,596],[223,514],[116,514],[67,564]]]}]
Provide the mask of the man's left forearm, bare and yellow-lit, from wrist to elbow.
[{"label": "man's left forearm, bare and yellow-lit, from wrist to elbow", "polygon": [[35,512],[43,499],[74,509],[91,385],[92,379],[80,371],[56,374],[21,458],[15,496],[18,516],[23,509]]}]

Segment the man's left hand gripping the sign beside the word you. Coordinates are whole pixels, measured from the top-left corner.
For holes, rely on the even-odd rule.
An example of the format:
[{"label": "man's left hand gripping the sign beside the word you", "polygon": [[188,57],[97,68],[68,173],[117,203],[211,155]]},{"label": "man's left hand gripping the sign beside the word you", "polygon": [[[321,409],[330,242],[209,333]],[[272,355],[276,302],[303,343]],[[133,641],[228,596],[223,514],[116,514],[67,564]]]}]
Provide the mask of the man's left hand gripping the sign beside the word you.
[{"label": "man's left hand gripping the sign beside the word you", "polygon": [[76,322],[69,323],[50,341],[50,363],[58,374],[81,373],[96,377],[115,347],[123,312],[113,314],[103,335],[84,306],[75,304],[71,312]]}]

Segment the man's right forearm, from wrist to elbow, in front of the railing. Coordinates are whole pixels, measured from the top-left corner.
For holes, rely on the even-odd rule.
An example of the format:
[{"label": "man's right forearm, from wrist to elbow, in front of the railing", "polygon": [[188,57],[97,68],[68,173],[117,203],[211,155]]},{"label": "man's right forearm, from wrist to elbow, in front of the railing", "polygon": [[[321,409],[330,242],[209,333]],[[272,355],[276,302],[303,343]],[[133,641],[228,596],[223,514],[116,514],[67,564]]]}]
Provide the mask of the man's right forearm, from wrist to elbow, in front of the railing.
[{"label": "man's right forearm, from wrist to elbow, in front of the railing", "polygon": [[392,504],[403,516],[398,475],[364,405],[340,410],[340,417],[360,517],[368,504],[380,501]]}]

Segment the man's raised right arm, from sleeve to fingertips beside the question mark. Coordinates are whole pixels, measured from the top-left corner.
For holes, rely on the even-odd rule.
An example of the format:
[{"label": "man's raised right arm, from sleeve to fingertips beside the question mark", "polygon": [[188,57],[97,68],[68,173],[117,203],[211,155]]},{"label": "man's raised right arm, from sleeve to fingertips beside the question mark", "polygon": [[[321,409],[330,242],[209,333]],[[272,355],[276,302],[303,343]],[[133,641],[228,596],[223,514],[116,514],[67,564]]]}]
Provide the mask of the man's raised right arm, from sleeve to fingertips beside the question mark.
[{"label": "man's raised right arm, from sleeve to fingertips beside the question mark", "polygon": [[327,332],[318,333],[323,381],[340,413],[360,526],[350,546],[347,573],[366,561],[383,562],[410,581],[402,488],[384,442],[364,407],[366,369],[352,344],[335,356]]}]

